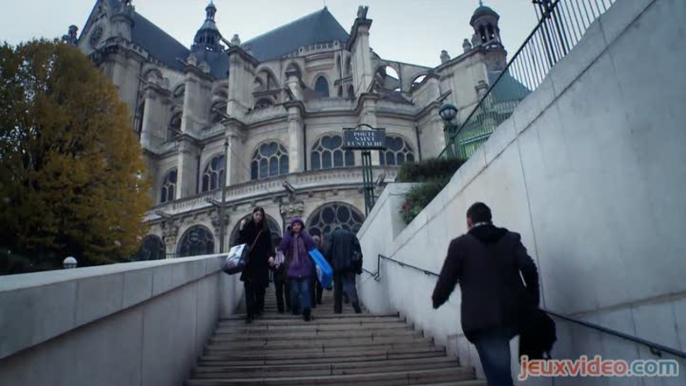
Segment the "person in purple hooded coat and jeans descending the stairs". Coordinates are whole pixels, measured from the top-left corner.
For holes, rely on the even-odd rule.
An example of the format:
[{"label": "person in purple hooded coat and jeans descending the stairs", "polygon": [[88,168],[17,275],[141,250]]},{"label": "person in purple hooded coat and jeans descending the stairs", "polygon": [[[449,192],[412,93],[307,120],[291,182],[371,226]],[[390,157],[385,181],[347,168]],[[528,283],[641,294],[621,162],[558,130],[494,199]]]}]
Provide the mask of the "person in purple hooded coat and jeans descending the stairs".
[{"label": "person in purple hooded coat and jeans descending the stairs", "polygon": [[305,231],[305,223],[299,218],[291,220],[290,229],[284,233],[279,250],[286,256],[286,275],[291,283],[293,314],[298,315],[302,311],[306,322],[310,321],[312,313],[310,286],[315,276],[314,262],[309,251],[315,247],[314,240]]}]

